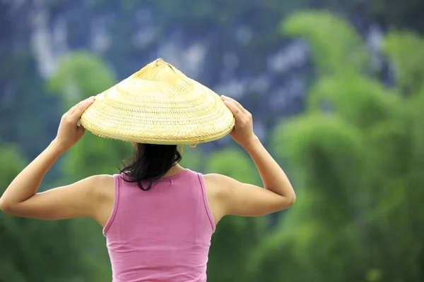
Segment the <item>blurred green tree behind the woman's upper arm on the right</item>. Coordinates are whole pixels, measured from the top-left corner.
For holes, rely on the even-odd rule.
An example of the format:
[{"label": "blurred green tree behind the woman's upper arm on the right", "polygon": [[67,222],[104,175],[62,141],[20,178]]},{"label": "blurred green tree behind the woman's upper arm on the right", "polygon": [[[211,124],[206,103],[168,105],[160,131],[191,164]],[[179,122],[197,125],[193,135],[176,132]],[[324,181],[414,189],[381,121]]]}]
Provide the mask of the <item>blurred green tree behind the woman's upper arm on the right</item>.
[{"label": "blurred green tree behind the woman's upper arm on the right", "polygon": [[[206,171],[230,176],[243,183],[260,185],[259,173],[251,159],[238,149],[223,149],[208,158]],[[254,281],[247,261],[264,233],[259,218],[225,216],[213,234],[208,262],[208,280]]]}]

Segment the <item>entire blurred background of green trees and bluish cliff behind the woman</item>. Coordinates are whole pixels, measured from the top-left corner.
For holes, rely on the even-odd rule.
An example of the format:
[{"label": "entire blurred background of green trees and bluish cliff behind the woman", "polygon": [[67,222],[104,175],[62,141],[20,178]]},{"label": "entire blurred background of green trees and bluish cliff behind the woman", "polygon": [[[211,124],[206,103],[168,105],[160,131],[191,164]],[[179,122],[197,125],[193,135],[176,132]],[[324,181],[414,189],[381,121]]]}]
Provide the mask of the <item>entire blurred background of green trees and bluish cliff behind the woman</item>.
[{"label": "entire blurred background of green trees and bluish cliff behind the woman", "polygon": [[[223,219],[208,281],[424,281],[423,15],[423,0],[0,0],[0,192],[64,111],[162,57],[251,111],[297,192]],[[88,133],[41,190],[130,154]],[[261,185],[229,137],[182,165]],[[101,227],[0,214],[0,281],[111,281]]]}]

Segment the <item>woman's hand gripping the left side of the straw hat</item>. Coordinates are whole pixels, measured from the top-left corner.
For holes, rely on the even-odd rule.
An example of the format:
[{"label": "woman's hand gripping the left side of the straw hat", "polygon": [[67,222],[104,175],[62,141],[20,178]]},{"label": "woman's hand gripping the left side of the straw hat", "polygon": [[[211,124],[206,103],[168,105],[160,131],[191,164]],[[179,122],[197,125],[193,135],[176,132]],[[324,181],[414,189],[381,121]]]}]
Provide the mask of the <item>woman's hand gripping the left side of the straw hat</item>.
[{"label": "woman's hand gripping the left side of the straw hat", "polygon": [[61,117],[57,136],[54,138],[54,143],[59,146],[59,149],[66,151],[78,142],[83,137],[84,128],[78,125],[78,121],[84,111],[93,104],[94,97],[85,99],[73,106],[66,114]]}]

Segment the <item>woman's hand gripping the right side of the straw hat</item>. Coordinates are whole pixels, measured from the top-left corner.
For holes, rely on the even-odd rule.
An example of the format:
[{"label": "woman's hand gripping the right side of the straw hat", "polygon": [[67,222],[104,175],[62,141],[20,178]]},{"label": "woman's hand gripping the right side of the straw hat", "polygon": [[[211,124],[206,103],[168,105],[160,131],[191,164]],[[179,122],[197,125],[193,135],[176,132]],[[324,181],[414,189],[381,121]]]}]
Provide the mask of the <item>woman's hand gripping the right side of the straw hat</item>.
[{"label": "woman's hand gripping the right side of the straw hat", "polygon": [[225,96],[221,96],[221,99],[223,99],[223,102],[235,117],[235,126],[230,132],[230,136],[240,146],[247,149],[256,138],[253,132],[252,114],[235,99]]}]

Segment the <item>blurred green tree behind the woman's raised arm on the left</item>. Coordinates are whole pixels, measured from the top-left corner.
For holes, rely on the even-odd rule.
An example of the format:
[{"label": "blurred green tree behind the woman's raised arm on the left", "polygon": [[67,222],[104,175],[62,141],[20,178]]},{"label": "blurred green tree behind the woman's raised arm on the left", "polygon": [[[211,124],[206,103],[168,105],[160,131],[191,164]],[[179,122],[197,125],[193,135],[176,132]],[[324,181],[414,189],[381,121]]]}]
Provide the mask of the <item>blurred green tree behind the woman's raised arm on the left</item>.
[{"label": "blurred green tree behind the woman's raised arm on the left", "polygon": [[[49,90],[59,94],[63,111],[82,99],[107,90],[116,83],[110,68],[94,54],[74,52],[66,56],[56,75],[48,81]],[[86,133],[66,153],[63,161],[63,183],[68,184],[96,174],[117,173],[117,166],[131,154],[132,146],[119,140],[107,140]],[[107,281],[111,270],[100,226],[89,219],[73,222],[73,245],[81,250],[83,276],[88,281]]]}]

